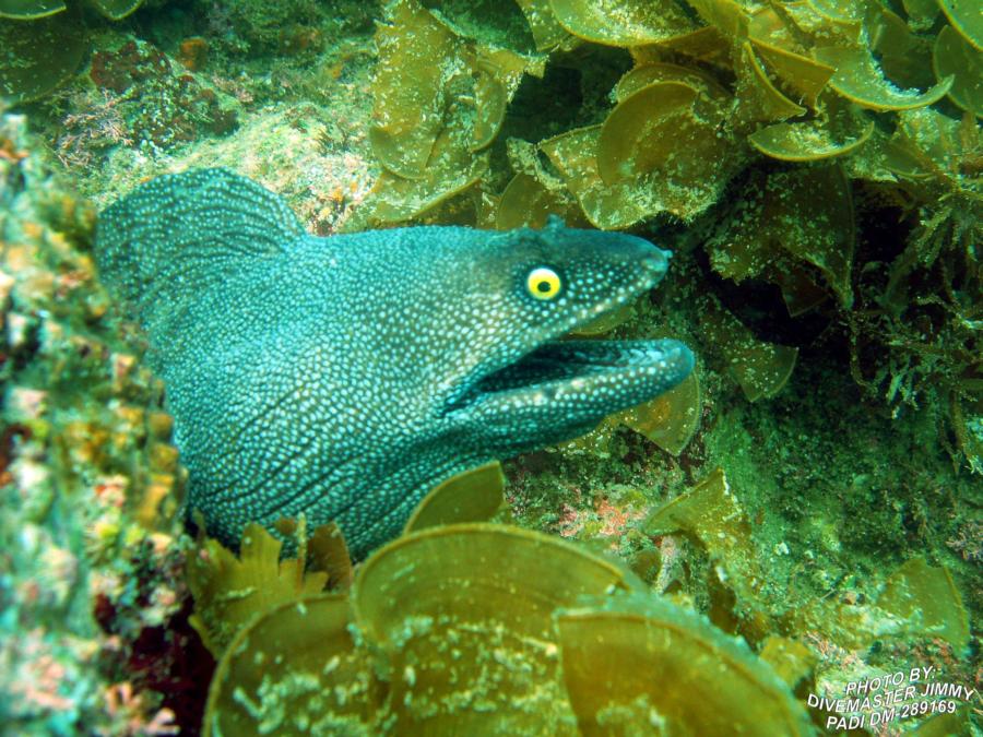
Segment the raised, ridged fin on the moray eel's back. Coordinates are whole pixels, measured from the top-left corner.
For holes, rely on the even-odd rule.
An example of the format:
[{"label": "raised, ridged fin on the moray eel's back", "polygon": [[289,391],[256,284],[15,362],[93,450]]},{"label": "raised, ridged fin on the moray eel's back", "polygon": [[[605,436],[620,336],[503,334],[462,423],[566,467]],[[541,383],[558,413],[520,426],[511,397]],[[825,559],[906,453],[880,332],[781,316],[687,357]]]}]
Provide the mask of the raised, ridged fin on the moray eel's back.
[{"label": "raised, ridged fin on the moray eel's back", "polygon": [[96,261],[104,283],[146,323],[161,297],[178,307],[244,259],[285,253],[304,235],[273,192],[226,169],[196,169],[152,179],[107,207]]}]

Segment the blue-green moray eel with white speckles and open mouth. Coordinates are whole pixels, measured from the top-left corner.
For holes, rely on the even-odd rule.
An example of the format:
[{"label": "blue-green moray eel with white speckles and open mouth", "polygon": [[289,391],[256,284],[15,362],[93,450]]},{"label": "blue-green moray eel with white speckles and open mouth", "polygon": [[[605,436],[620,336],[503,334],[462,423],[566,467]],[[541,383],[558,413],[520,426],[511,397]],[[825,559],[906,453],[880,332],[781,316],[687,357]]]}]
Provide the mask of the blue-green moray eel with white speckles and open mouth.
[{"label": "blue-green moray eel with white speckles and open mouth", "polygon": [[98,218],[105,284],[164,379],[189,510],[336,521],[356,557],[442,479],[580,436],[692,369],[676,341],[565,341],[655,286],[670,253],[567,228],[309,236],[222,169],[153,179]]}]

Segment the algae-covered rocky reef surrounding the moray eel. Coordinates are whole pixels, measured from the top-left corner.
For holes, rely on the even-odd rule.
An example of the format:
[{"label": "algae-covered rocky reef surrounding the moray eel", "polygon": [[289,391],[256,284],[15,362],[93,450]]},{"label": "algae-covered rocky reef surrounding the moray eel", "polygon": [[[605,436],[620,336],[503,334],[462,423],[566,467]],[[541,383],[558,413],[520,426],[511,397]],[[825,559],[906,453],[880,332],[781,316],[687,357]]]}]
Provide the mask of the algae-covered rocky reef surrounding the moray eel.
[{"label": "algae-covered rocky reef surrounding the moray eel", "polygon": [[[979,734],[979,690],[853,727],[810,697],[983,686],[981,46],[951,0],[0,0],[0,724]],[[580,337],[697,371],[354,570],[304,520],[283,560],[192,539],[91,249],[194,166],[318,234],[647,237],[662,287]]]}]

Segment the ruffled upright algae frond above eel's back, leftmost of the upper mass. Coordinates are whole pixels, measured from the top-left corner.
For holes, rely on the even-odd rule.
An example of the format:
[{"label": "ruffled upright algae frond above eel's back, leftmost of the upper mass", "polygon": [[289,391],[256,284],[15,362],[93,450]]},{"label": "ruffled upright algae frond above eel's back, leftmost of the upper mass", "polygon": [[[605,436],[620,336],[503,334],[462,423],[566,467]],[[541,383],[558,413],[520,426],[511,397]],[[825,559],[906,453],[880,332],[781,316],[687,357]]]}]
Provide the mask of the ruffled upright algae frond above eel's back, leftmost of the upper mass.
[{"label": "ruffled upright algae frond above eel's back, leftmost of the upper mass", "polygon": [[458,35],[417,0],[387,7],[377,34],[372,148],[386,171],[367,223],[421,215],[474,185],[524,73],[542,59]]}]

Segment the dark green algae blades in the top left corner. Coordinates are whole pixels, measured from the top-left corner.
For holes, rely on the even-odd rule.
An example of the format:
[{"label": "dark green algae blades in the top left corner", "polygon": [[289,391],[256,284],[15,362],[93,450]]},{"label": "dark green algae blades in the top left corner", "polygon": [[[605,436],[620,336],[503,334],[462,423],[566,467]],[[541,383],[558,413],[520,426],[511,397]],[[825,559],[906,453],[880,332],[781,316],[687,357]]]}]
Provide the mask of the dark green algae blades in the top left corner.
[{"label": "dark green algae blades in the top left corner", "polygon": [[[85,0],[119,21],[143,0]],[[0,96],[15,103],[44,97],[66,82],[87,50],[82,4],[69,0],[0,1]]]}]

